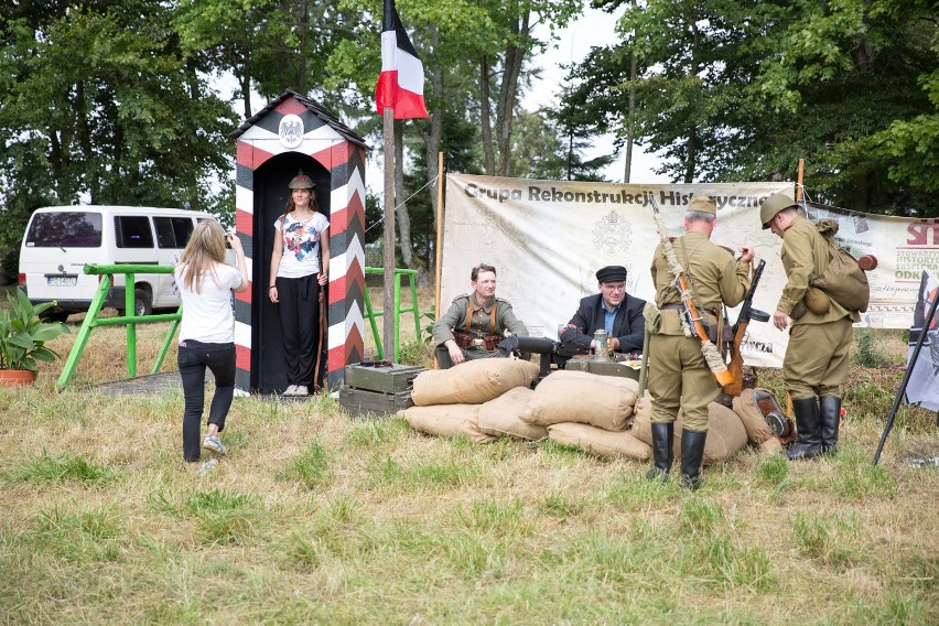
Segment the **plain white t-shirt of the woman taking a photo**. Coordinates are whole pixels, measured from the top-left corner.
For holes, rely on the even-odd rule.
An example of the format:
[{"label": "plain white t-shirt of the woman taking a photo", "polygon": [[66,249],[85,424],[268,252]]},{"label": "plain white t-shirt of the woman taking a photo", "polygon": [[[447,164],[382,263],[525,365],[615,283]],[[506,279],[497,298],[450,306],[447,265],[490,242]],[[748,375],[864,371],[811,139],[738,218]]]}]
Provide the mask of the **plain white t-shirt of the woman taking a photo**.
[{"label": "plain white t-shirt of the woman taking a photo", "polygon": [[231,266],[217,263],[214,276],[211,271],[203,273],[202,293],[195,293],[183,283],[183,267],[176,266],[173,271],[183,301],[180,341],[195,339],[209,344],[234,342],[231,290],[241,284],[241,272]]}]

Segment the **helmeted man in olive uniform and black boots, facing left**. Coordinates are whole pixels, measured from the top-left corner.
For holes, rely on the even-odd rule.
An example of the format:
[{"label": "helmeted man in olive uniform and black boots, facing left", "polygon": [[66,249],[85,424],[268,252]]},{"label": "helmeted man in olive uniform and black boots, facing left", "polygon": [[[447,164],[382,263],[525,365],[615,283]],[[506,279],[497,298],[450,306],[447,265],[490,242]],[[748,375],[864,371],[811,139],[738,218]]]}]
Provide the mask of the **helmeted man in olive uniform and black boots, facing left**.
[{"label": "helmeted man in olive uniform and black boots, facing left", "polygon": [[[788,281],[773,324],[789,330],[789,347],[782,359],[782,380],[792,399],[799,441],[785,454],[790,461],[834,454],[841,418],[841,388],[848,376],[848,352],[854,322],[861,316],[824,296],[809,281],[824,273],[828,244],[816,227],[798,213],[791,196],[773,194],[759,211],[763,228],[782,238],[782,267]],[[807,300],[807,294],[821,296]]]}]

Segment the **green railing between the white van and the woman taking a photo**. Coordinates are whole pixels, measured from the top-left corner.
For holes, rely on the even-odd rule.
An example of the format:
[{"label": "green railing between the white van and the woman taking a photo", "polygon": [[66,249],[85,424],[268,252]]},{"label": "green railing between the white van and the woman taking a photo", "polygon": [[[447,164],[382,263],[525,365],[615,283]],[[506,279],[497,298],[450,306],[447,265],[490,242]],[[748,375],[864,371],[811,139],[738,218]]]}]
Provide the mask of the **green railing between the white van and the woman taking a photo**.
[{"label": "green railing between the white van and the woman taking a photo", "polygon": [[[91,336],[91,331],[98,326],[127,325],[127,375],[129,378],[133,378],[137,376],[137,325],[153,322],[173,322],[170,326],[170,332],[166,334],[166,339],[163,342],[163,347],[160,348],[160,354],[156,355],[156,363],[150,373],[156,374],[160,371],[163,359],[166,358],[166,353],[170,349],[170,342],[173,341],[173,336],[180,327],[183,307],[180,305],[179,311],[175,313],[134,315],[133,294],[136,276],[138,273],[173,273],[173,266],[85,266],[84,271],[86,274],[98,274],[101,277],[101,280],[98,284],[98,291],[95,292],[95,298],[91,299],[91,305],[85,315],[82,328],[78,331],[78,336],[75,338],[75,344],[72,346],[72,352],[68,353],[68,358],[65,361],[62,375],[58,377],[58,382],[55,384],[57,388],[62,389],[72,381],[72,377],[75,376],[75,368],[78,366],[78,359],[82,358],[82,353],[85,352],[88,337]],[[125,315],[99,319],[98,314],[101,312],[101,307],[108,296],[108,291],[110,291],[114,283],[114,274],[125,274]],[[130,315],[127,313],[130,313]]]}]

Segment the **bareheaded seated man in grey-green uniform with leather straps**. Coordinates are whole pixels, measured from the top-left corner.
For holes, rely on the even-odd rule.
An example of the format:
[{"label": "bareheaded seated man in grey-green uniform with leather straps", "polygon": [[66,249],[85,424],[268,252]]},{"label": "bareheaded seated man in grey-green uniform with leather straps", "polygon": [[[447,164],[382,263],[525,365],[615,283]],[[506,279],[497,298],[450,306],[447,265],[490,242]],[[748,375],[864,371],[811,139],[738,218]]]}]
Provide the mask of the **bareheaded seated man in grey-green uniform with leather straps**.
[{"label": "bareheaded seated man in grey-green uniform with leather straps", "polygon": [[479,263],[470,273],[471,293],[453,300],[433,325],[436,363],[449,369],[467,359],[499,356],[496,345],[505,332],[527,335],[507,300],[496,298],[496,268]]}]

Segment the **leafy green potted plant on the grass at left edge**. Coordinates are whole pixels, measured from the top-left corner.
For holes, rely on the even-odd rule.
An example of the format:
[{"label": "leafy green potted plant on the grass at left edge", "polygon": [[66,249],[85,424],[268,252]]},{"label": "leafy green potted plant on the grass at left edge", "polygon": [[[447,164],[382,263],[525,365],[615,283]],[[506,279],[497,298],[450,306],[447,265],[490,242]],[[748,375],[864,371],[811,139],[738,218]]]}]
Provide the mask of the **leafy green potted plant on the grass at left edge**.
[{"label": "leafy green potted plant on the grass at left edge", "polygon": [[36,361],[52,363],[61,357],[45,343],[68,333],[68,326],[40,317],[55,302],[33,306],[19,288],[15,296],[8,295],[7,301],[7,309],[0,310],[0,385],[31,385],[39,373]]}]

